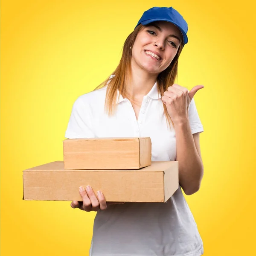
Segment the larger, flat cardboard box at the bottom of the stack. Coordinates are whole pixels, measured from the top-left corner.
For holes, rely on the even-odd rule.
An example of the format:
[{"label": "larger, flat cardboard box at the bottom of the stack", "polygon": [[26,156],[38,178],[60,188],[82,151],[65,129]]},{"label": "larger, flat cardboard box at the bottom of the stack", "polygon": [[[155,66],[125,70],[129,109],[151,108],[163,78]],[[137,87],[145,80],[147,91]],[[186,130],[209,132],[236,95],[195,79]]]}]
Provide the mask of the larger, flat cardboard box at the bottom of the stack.
[{"label": "larger, flat cardboard box at the bottom of the stack", "polygon": [[23,171],[24,200],[82,201],[79,186],[101,190],[106,201],[166,202],[178,188],[178,161],[139,170],[66,170],[56,161]]}]

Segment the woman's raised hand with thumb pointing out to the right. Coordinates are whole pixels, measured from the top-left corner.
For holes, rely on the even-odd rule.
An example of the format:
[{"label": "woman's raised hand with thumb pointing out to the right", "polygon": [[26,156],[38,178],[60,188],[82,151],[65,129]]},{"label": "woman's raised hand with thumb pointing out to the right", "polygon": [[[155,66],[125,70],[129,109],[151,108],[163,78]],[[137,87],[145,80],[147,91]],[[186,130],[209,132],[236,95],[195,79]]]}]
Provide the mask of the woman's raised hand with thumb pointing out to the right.
[{"label": "woman's raised hand with thumb pointing out to the right", "polygon": [[203,85],[197,85],[189,91],[185,87],[173,84],[163,93],[162,101],[174,124],[188,119],[189,104],[195,93],[202,88]]}]

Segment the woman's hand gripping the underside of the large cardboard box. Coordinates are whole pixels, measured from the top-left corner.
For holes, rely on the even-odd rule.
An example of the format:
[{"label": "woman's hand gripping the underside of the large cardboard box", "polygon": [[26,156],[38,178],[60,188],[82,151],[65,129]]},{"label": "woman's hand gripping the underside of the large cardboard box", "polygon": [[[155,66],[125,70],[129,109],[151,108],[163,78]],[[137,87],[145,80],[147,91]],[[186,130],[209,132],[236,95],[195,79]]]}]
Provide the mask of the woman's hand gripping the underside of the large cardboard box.
[{"label": "woman's hand gripping the underside of the large cardboard box", "polygon": [[93,189],[90,186],[87,186],[86,190],[84,187],[79,188],[79,193],[83,201],[73,201],[70,206],[72,208],[79,208],[86,212],[98,211],[99,209],[105,210],[107,206],[111,204],[124,204],[123,202],[106,202],[105,196],[101,191],[97,192],[98,198],[96,197]]}]

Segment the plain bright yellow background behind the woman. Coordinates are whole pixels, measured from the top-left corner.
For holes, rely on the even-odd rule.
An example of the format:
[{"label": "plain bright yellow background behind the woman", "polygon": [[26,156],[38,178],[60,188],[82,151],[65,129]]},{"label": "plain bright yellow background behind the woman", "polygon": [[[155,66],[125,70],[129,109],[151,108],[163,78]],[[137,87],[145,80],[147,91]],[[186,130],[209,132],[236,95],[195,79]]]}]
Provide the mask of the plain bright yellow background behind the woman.
[{"label": "plain bright yellow background behind the woman", "polygon": [[178,84],[204,84],[201,189],[186,196],[205,256],[255,255],[255,3],[1,1],[1,256],[88,255],[95,212],[23,201],[22,171],[63,160],[73,103],[115,69],[146,9],[189,24]]}]

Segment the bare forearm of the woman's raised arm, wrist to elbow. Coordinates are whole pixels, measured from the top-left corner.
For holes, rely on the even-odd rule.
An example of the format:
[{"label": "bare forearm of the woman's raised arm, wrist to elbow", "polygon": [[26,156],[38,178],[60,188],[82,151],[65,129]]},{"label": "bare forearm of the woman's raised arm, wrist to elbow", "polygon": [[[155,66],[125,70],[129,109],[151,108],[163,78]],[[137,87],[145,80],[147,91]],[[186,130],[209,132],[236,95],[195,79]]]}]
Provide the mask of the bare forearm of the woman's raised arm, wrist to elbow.
[{"label": "bare forearm of the woman's raised arm, wrist to elbow", "polygon": [[189,119],[175,123],[175,134],[179,183],[186,195],[192,195],[200,187],[204,166],[195,147]]}]

